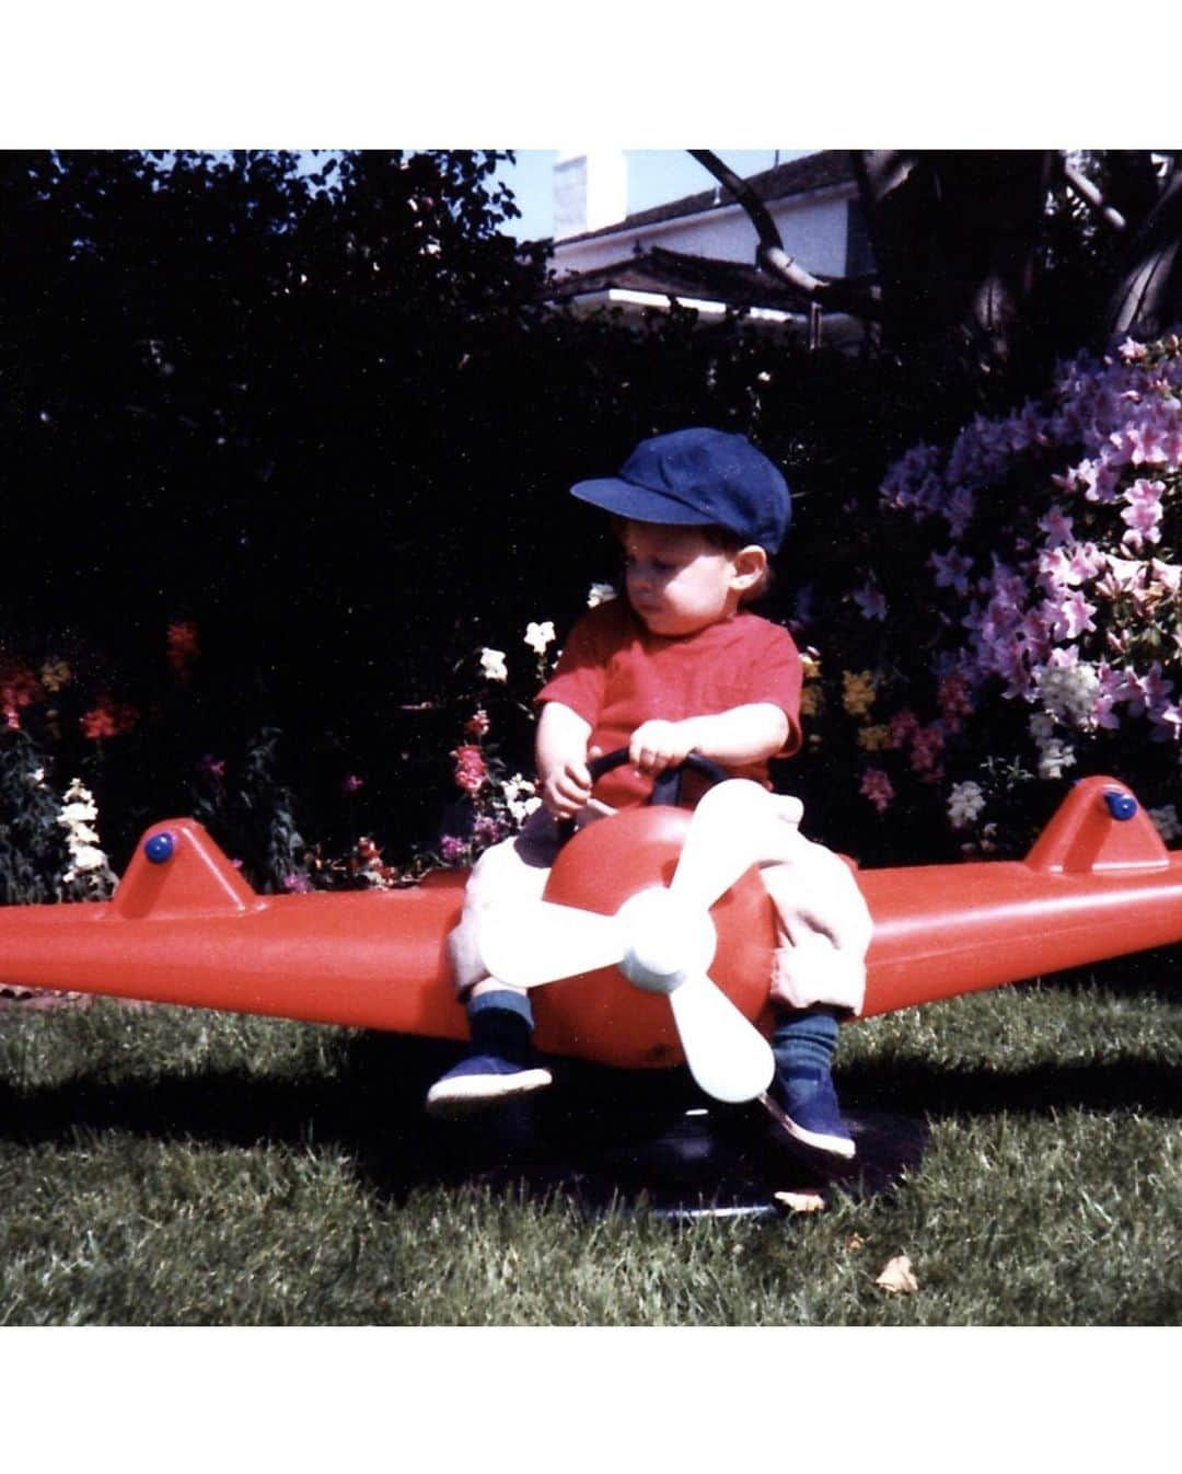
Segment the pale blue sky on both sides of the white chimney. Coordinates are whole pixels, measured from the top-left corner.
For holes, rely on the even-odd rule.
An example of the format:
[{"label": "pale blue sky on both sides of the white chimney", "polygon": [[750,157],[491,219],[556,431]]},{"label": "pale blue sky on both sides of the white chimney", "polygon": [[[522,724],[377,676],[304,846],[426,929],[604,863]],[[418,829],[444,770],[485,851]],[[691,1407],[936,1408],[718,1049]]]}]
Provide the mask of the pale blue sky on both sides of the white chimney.
[{"label": "pale blue sky on both sides of the white chimney", "polygon": [[[557,149],[516,149],[517,162],[503,164],[498,178],[513,190],[520,220],[510,234],[519,240],[539,240],[554,233],[554,159]],[[777,161],[799,158],[806,149],[718,149],[722,161],[737,174],[758,174]],[[713,178],[691,159],[685,149],[625,149],[628,158],[628,211],[648,209],[684,195],[710,189]]]}]

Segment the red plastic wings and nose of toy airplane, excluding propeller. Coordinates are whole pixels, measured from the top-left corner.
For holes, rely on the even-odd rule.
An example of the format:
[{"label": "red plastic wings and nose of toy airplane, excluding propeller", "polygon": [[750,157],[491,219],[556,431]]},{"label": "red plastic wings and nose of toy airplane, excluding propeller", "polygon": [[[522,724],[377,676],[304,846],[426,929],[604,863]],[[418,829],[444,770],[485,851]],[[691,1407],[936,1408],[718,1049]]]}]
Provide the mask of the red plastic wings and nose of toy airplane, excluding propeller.
[{"label": "red plastic wings and nose of toy airplane, excluding propeller", "polygon": [[[1182,853],[1110,778],[1079,783],[1026,861],[858,871],[874,917],[867,1014],[1182,940]],[[548,898],[604,912],[672,876],[688,815],[634,809],[570,842]],[[153,864],[146,843],[172,836]],[[192,820],[153,825],[112,902],[0,908],[0,979],[435,1038],[466,1035],[445,939],[466,874],[405,890],[259,896]],[[713,908],[710,968],[766,1021],[772,909],[756,871]],[[535,993],[539,1044],[623,1066],[681,1058],[668,1004],[615,968]]]}]

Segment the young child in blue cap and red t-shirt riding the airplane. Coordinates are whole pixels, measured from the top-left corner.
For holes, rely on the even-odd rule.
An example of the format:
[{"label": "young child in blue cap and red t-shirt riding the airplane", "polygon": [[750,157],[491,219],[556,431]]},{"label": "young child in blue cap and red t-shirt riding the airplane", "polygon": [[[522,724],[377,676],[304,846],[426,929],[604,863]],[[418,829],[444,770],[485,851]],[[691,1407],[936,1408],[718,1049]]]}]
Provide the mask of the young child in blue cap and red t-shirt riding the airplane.
[{"label": "young child in blue cap and red t-shirt riding the airplane", "polygon": [[[572,494],[612,513],[626,598],[579,621],[536,697],[542,808],[469,880],[448,945],[472,1054],[427,1092],[432,1114],[551,1082],[531,1054],[528,993],[486,976],[478,932],[486,907],[542,895],[560,822],[643,803],[657,774],[691,752],[769,787],[768,761],[800,746],[796,646],[743,607],[766,587],[788,526],[788,488],[772,463],[741,435],[675,430],[641,441],[619,476]],[[632,765],[592,786],[588,756],[616,747]],[[862,1004],[870,915],[846,864],[799,834],[799,800],[769,803],[786,821],[784,848],[762,871],[778,917],[772,1095],[793,1136],[849,1157],[830,1064],[839,1016]]]}]

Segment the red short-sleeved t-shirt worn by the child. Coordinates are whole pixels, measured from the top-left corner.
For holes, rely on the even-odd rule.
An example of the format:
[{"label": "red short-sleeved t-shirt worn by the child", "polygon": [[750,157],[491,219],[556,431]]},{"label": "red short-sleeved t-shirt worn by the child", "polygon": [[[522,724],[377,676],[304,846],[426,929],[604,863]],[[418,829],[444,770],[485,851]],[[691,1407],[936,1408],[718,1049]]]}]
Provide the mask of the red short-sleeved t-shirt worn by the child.
[{"label": "red short-sleeved t-shirt worn by the child", "polygon": [[[783,756],[800,746],[800,654],[787,629],[740,610],[697,634],[650,634],[623,598],[600,604],[575,625],[538,703],[562,702],[591,724],[588,746],[626,747],[641,722],[713,716],[768,702],[788,718]],[[768,783],[768,765],[735,777]],[[643,803],[653,780],[626,764],[604,774],[595,797],[616,808]]]}]

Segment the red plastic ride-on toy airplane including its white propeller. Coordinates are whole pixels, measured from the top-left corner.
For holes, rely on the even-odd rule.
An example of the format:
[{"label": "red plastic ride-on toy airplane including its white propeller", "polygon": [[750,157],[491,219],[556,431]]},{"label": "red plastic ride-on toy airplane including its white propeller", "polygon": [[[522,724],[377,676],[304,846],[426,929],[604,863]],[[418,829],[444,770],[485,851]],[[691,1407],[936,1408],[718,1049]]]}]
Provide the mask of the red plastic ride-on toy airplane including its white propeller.
[{"label": "red plastic ride-on toy airplane including its white propeller", "polygon": [[[492,971],[535,1001],[550,1054],[685,1060],[724,1101],[771,1079],[772,907],[752,867],[752,783],[690,814],[623,811],[562,850]],[[1182,852],[1133,794],[1082,780],[1024,861],[856,871],[874,939],[864,1016],[1182,940]],[[193,820],[153,825],[111,902],[0,909],[0,976],[32,988],[466,1038],[444,942],[466,873],[405,890],[262,896]]]}]

